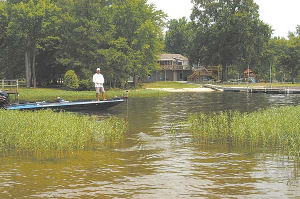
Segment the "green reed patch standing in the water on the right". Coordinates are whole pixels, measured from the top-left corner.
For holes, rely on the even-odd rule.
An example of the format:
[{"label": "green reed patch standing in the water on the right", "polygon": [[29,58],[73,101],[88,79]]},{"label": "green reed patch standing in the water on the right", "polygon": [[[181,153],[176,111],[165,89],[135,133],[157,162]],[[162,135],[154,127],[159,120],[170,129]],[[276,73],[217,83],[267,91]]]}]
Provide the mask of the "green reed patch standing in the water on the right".
[{"label": "green reed patch standing in the water on the right", "polygon": [[230,143],[280,148],[289,157],[300,159],[300,106],[259,109],[252,113],[190,113],[182,128],[207,145]]}]

